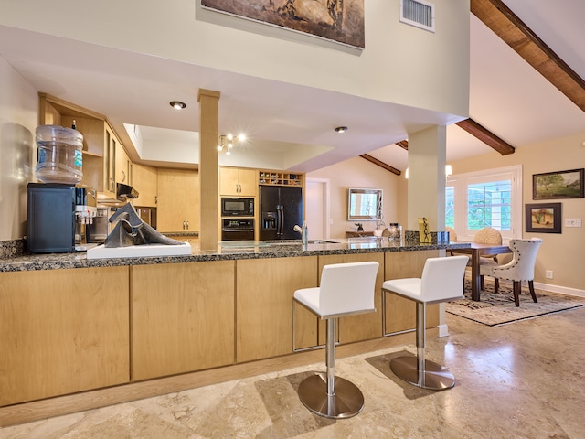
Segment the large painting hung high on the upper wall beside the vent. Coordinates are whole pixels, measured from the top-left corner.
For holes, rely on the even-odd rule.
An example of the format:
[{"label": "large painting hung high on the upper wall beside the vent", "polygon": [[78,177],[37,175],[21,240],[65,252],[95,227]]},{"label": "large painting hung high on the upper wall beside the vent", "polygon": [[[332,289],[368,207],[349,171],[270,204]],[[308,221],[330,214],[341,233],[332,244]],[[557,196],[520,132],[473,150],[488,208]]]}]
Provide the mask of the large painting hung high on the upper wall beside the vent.
[{"label": "large painting hung high on the upper wall beside the vent", "polygon": [[365,47],[364,0],[201,0],[218,12]]}]

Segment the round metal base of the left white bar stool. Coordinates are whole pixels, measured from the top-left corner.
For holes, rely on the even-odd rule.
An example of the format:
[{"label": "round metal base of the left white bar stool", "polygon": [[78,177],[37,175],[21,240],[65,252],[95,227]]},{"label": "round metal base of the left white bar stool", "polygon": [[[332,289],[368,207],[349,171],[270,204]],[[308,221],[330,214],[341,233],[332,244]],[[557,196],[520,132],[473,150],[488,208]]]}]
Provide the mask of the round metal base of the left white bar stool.
[{"label": "round metal base of the left white bar stool", "polygon": [[327,377],[315,374],[299,384],[299,398],[304,406],[319,416],[344,419],[356,416],[364,408],[364,395],[356,385],[335,377],[335,395],[327,396]]}]

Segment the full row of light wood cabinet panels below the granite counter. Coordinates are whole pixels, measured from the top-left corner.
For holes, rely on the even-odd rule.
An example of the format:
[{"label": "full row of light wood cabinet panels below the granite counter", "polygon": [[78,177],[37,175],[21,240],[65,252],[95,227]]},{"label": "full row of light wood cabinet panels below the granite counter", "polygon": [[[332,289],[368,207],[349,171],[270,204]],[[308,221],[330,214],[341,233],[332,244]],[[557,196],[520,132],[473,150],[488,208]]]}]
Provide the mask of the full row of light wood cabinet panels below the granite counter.
[{"label": "full row of light wood cabinet panels below the granite counter", "polygon": [[[159,263],[0,273],[0,406],[324,345],[324,321],[293,294],[323,266],[376,261],[377,311],[339,319],[352,343],[413,329],[415,304],[382,291],[438,251]],[[428,327],[439,323],[431,305]],[[234,318],[235,316],[235,318]]]}]

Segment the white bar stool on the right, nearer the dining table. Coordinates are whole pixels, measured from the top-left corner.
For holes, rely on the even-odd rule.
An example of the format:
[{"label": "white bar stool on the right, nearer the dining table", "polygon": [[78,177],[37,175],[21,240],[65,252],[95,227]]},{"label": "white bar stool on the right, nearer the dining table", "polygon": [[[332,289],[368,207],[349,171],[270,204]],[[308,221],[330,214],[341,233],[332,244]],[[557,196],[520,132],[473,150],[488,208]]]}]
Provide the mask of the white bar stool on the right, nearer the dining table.
[{"label": "white bar stool on the right, nearer the dining table", "polygon": [[468,261],[467,256],[429,258],[424,264],[422,278],[395,279],[382,284],[382,294],[388,291],[417,303],[417,356],[390,361],[390,369],[402,380],[433,391],[455,385],[455,377],[449,370],[424,359],[427,305],[463,299],[463,276]]}]

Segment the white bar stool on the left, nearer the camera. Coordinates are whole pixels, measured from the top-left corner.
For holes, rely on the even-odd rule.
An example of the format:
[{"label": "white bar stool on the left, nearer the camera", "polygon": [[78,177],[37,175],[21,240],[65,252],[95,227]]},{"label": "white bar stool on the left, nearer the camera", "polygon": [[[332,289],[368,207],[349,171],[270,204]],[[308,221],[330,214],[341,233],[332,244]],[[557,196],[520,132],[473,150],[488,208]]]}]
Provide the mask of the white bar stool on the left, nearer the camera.
[{"label": "white bar stool on the left, nearer the camera", "polygon": [[299,398],[311,412],[325,418],[349,418],[364,408],[364,395],[348,380],[335,377],[335,326],[341,316],[372,313],[378,262],[325,265],[320,286],[294,292],[294,301],[327,320],[326,374],[306,378]]}]

